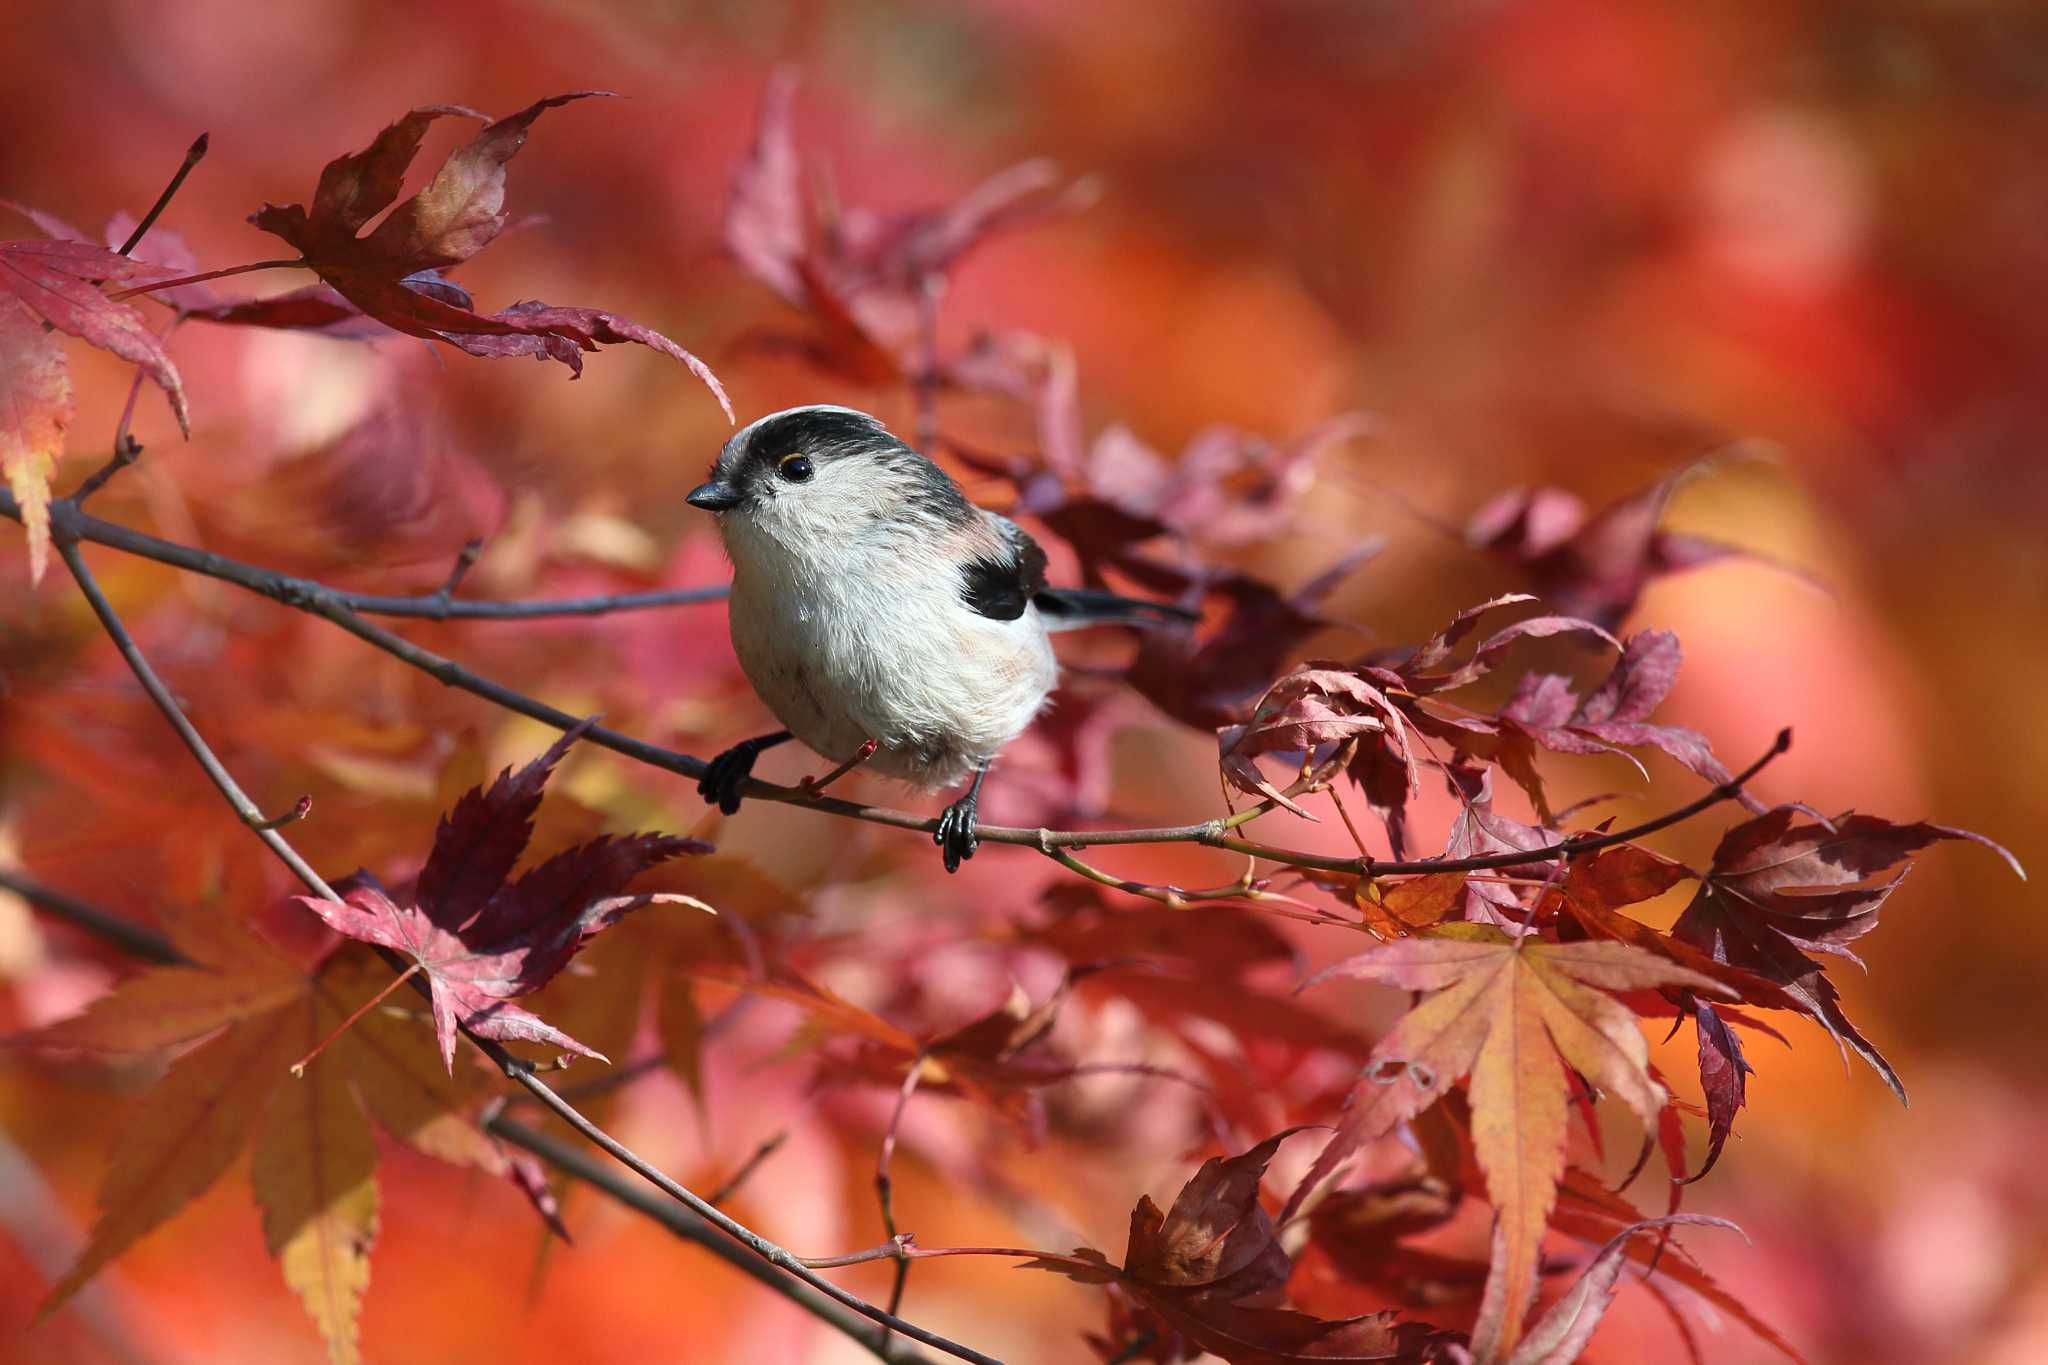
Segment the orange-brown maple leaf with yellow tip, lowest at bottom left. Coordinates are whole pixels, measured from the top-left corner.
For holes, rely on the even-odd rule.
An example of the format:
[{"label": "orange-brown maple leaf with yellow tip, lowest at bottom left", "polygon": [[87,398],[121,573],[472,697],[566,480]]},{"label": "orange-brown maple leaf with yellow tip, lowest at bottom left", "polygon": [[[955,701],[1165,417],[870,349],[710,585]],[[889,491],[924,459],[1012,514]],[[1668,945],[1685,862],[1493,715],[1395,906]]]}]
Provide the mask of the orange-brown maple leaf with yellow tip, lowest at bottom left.
[{"label": "orange-brown maple leaf with yellow tip, lowest at bottom left", "polygon": [[330,1361],[356,1361],[377,1240],[377,1144],[365,1109],[428,1156],[508,1175],[512,1160],[469,1117],[481,1085],[467,1070],[451,1076],[418,1021],[385,1013],[360,1019],[295,1081],[293,1058],[334,1033],[391,970],[356,950],[303,966],[225,915],[184,915],[168,929],[188,966],[137,972],[82,1015],[25,1040],[109,1054],[203,1040],[125,1126],[100,1181],[92,1238],[41,1314],[211,1189],[254,1142],[264,1242]]}]

